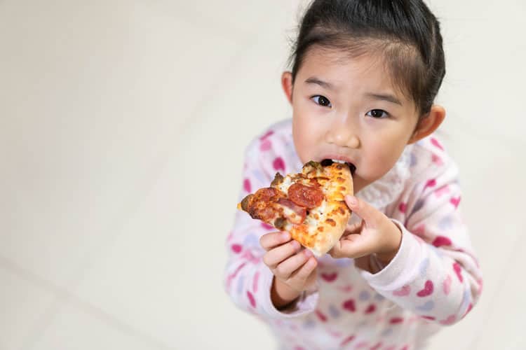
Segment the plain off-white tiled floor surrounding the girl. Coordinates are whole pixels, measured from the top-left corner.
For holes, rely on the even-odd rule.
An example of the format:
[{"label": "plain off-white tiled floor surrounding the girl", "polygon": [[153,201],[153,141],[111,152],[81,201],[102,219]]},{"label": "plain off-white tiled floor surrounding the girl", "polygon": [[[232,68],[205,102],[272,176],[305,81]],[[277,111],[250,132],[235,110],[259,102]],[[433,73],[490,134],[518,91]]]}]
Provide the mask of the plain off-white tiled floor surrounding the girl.
[{"label": "plain off-white tiled floor surrounding the girl", "polygon": [[[274,346],[222,290],[224,240],[243,148],[290,117],[298,2],[0,1],[1,350]],[[525,349],[526,6],[431,8],[485,275],[431,349]]]}]

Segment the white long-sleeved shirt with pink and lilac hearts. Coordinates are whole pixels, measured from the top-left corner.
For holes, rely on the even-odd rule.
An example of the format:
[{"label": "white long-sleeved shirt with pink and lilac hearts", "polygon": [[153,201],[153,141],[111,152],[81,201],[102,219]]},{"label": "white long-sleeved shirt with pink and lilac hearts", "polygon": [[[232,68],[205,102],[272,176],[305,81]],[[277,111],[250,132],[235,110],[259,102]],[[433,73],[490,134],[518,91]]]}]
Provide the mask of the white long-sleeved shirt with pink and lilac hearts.
[{"label": "white long-sleeved shirt with pink and lilac hearts", "polygon": [[[291,120],[272,125],[245,151],[239,200],[269,187],[276,172],[302,166]],[[238,211],[227,238],[225,289],[238,307],[270,326],[280,349],[422,349],[443,325],[464,318],[482,290],[461,217],[458,175],[436,134],[407,145],[387,174],[355,193],[402,231],[393,260],[372,274],[353,259],[323,255],[316,287],[281,311],[271,302],[274,276],[259,245],[259,237],[276,229]],[[351,223],[358,219],[353,214]]]}]

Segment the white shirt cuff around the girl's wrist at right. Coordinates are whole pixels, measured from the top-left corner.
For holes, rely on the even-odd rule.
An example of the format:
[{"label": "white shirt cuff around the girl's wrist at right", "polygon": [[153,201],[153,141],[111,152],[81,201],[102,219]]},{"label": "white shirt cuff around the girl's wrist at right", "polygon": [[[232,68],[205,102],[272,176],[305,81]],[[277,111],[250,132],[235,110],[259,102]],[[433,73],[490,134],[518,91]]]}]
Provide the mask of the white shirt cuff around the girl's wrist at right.
[{"label": "white shirt cuff around the girl's wrist at right", "polygon": [[422,260],[422,254],[424,254],[417,238],[407,231],[400,221],[394,219],[391,221],[402,231],[398,253],[381,271],[375,274],[367,271],[360,272],[370,286],[378,290],[397,290],[412,281],[413,276],[417,274],[418,262]]}]

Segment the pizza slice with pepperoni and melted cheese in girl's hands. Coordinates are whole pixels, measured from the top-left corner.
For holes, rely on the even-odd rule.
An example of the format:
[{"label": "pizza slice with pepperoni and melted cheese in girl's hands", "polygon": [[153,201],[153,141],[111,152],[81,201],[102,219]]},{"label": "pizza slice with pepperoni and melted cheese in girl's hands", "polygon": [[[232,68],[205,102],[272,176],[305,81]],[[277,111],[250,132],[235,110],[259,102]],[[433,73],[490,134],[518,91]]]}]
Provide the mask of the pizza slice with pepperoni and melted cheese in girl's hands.
[{"label": "pizza slice with pepperoni and melted cheese in girl's hands", "polygon": [[238,209],[290,232],[292,239],[319,257],[342,237],[351,217],[345,195],[353,195],[349,165],[311,161],[298,174],[276,173],[270,187],[246,196]]}]

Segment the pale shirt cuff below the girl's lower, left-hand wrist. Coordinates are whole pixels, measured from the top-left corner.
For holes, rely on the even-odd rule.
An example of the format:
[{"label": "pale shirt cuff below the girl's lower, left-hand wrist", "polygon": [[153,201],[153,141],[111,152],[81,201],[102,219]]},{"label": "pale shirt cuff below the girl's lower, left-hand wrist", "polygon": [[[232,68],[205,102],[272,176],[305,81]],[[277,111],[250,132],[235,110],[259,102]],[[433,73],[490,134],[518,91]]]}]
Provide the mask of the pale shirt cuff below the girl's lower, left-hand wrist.
[{"label": "pale shirt cuff below the girl's lower, left-hand wrist", "polygon": [[295,318],[303,316],[305,314],[310,314],[316,309],[318,304],[319,293],[318,286],[314,286],[310,290],[304,291],[299,295],[296,302],[293,302],[286,309],[278,310],[274,307],[271,300],[271,288],[272,280],[274,274],[272,274],[270,269],[264,269],[263,274],[263,283],[262,288],[264,288],[264,298],[263,298],[263,309],[269,314],[272,318]]}]

